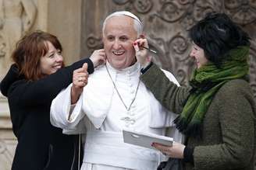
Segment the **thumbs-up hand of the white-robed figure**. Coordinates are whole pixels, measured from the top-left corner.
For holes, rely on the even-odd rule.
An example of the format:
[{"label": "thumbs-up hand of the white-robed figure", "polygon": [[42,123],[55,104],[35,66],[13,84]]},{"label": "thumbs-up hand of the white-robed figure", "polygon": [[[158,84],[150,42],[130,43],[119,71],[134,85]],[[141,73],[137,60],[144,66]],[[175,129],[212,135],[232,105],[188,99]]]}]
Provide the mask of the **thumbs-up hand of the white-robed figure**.
[{"label": "thumbs-up hand of the white-robed figure", "polygon": [[87,63],[84,63],[82,68],[78,68],[73,71],[73,85],[71,88],[71,104],[77,102],[80,97],[80,94],[83,92],[83,88],[87,85],[88,81],[88,72],[87,72]]}]

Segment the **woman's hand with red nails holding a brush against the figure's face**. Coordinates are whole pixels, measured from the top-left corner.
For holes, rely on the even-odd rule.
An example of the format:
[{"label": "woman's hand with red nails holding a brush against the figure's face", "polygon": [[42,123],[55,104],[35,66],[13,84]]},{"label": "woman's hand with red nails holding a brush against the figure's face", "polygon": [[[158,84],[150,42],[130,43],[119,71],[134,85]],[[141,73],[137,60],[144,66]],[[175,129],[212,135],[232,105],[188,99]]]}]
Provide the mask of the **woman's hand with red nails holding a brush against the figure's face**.
[{"label": "woman's hand with red nails holding a brush against the figure's face", "polygon": [[146,68],[151,62],[151,57],[148,55],[148,49],[144,48],[148,48],[148,40],[142,36],[140,39],[134,41],[133,47],[135,49],[137,61],[139,61],[142,68]]}]

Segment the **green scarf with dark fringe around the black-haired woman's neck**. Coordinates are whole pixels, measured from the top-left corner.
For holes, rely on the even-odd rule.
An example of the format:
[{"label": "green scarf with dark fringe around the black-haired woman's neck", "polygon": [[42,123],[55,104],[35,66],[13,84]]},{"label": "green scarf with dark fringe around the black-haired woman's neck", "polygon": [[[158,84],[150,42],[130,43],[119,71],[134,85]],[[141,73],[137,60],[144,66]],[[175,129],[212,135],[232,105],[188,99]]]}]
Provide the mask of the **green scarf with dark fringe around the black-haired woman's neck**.
[{"label": "green scarf with dark fringe around the black-haired woman's neck", "polygon": [[201,137],[202,121],[215,93],[229,80],[244,78],[248,74],[249,50],[250,47],[247,46],[236,47],[226,54],[221,68],[208,62],[193,72],[190,96],[183,112],[174,120],[180,132],[188,136]]}]

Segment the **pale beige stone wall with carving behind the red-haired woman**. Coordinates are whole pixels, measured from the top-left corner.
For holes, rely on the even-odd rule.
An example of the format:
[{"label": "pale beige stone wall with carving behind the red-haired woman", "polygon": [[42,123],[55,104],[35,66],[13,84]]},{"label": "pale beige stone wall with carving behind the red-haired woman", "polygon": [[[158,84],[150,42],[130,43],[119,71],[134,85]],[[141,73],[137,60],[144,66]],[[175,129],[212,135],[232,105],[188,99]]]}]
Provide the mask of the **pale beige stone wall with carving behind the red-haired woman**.
[{"label": "pale beige stone wall with carving behind the red-haired woman", "polygon": [[[0,81],[12,63],[10,54],[16,41],[25,33],[37,29],[59,37],[66,64],[79,60],[81,2],[82,0],[0,0]],[[0,93],[1,170],[11,169],[16,144],[7,99]]]}]

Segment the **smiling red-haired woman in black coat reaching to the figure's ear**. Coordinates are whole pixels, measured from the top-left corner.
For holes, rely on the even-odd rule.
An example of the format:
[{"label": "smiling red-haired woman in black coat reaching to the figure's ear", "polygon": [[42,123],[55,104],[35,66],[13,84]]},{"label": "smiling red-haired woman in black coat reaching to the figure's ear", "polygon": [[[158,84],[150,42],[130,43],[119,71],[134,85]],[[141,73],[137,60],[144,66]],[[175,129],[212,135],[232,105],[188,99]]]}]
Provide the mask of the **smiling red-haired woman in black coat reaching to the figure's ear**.
[{"label": "smiling red-haired woman in black coat reaching to the figure's ear", "polygon": [[73,81],[73,73],[80,74],[80,83],[86,84],[88,73],[105,61],[105,54],[94,51],[90,59],[63,68],[62,45],[57,37],[36,31],[16,44],[12,60],[14,64],[1,82],[18,139],[12,170],[77,169],[78,138],[52,126],[50,106]]}]

